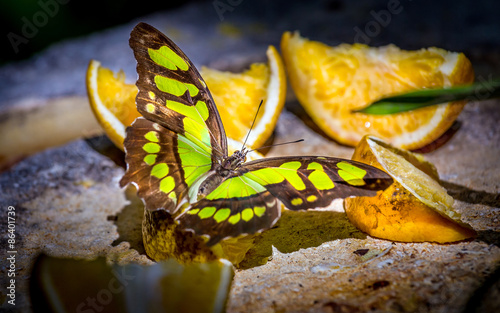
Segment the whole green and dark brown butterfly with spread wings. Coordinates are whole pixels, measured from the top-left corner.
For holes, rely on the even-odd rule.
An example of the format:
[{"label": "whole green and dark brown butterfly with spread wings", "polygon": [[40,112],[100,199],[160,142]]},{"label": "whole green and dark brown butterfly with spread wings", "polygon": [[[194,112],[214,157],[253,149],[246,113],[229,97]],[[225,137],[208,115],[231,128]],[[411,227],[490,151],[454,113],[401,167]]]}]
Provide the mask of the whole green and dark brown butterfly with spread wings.
[{"label": "whole green and dark brown butterfly with spread wings", "polygon": [[281,205],[328,206],[334,199],[373,196],[389,175],[354,161],[316,156],[245,163],[228,155],[227,138],[207,85],[188,57],[152,26],[138,24],[130,47],[137,59],[137,109],[127,128],[127,171],[147,210],[165,210],[180,226],[207,235],[207,245],[273,226]]}]

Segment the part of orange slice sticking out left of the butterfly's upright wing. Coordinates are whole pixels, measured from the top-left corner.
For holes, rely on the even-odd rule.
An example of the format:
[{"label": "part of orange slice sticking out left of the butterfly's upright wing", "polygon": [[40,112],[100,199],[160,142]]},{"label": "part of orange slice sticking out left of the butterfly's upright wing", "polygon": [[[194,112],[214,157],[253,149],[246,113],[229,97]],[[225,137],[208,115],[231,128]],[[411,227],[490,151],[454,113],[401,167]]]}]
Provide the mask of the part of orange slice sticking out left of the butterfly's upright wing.
[{"label": "part of orange slice sticking out left of the butterfly's upright wing", "polygon": [[91,60],[87,69],[90,107],[106,135],[121,150],[125,128],[139,116],[135,106],[137,87],[125,83],[125,73],[116,75],[101,62]]}]

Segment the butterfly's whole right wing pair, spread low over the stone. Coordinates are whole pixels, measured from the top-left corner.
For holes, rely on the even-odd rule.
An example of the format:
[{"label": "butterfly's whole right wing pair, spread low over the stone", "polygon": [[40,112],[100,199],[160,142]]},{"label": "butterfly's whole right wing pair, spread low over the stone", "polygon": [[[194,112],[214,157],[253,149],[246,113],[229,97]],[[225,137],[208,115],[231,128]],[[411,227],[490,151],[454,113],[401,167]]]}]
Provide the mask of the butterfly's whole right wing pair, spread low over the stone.
[{"label": "butterfly's whole right wing pair, spread low over the stone", "polygon": [[279,157],[244,164],[207,197],[178,217],[182,227],[210,237],[268,229],[288,209],[326,207],[338,198],[373,196],[392,178],[372,166],[339,158]]}]

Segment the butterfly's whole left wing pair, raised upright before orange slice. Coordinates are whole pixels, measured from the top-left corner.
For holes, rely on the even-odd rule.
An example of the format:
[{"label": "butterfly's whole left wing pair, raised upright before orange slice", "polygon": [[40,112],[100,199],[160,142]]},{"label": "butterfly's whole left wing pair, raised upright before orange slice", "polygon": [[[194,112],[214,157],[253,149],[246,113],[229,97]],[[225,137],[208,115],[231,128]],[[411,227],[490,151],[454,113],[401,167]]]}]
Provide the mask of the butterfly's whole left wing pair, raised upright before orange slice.
[{"label": "butterfly's whole left wing pair, raised upright before orange slice", "polygon": [[120,184],[138,186],[146,208],[174,213],[191,186],[227,156],[224,127],[202,77],[169,38],[139,23],[130,47],[139,74],[137,110],[146,119],[127,129]]}]

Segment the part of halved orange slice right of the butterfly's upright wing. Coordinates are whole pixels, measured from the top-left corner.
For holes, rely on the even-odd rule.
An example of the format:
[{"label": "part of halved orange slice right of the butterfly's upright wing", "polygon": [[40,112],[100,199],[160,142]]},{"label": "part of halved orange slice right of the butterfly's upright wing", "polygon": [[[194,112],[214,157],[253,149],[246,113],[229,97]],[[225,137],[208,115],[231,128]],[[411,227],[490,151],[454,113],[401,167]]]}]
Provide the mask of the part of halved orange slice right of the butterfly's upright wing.
[{"label": "part of halved orange slice right of the butterfly's upright wing", "polygon": [[228,137],[243,142],[262,107],[246,145],[258,148],[271,136],[285,105],[286,76],[275,47],[267,49],[268,64],[255,63],[243,73],[221,72],[202,67]]}]

